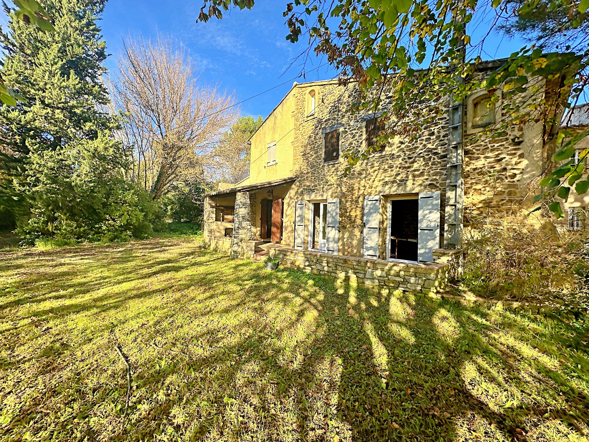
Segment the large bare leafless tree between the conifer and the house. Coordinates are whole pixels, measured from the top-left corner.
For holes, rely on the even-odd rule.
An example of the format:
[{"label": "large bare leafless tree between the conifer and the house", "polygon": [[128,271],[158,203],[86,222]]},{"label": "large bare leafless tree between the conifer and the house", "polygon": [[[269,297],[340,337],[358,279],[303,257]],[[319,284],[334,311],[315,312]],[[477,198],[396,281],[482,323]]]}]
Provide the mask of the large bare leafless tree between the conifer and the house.
[{"label": "large bare leafless tree between the conifer and the house", "polygon": [[234,97],[198,84],[196,65],[169,38],[129,39],[112,88],[124,114],[118,137],[133,146],[133,179],[154,199],[176,182],[202,182],[224,131],[237,118]]}]

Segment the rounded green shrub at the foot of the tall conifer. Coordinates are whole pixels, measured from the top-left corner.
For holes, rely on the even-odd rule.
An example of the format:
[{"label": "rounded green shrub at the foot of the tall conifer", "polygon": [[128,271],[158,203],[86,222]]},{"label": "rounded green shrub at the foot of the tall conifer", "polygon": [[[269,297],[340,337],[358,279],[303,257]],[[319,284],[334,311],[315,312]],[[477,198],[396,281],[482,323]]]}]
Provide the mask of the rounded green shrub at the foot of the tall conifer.
[{"label": "rounded green shrub at the foot of the tall conifer", "polygon": [[23,242],[104,242],[153,235],[150,221],[157,204],[148,192],[124,179],[125,161],[108,134],[76,149],[31,154],[24,175],[15,180],[29,209],[17,223]]}]

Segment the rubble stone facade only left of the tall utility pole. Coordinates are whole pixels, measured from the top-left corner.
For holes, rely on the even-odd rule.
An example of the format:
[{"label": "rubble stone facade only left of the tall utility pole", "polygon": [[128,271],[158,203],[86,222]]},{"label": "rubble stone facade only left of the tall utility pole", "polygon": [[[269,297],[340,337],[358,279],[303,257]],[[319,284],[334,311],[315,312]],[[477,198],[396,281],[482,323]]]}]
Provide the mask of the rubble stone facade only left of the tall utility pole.
[{"label": "rubble stone facade only left of the tall utility pole", "polygon": [[[306,116],[306,95],[315,90],[317,105],[313,116]],[[284,201],[284,240],[293,244],[294,201],[339,198],[339,253],[362,256],[363,197],[391,196],[440,190],[445,193],[446,143],[448,121],[445,115],[422,128],[419,143],[395,139],[385,150],[372,154],[343,176],[346,161],[342,154],[358,150],[365,140],[368,116],[348,111],[353,87],[337,83],[303,84],[294,94],[294,173],[293,184]],[[340,128],[340,160],[323,163],[323,133],[326,128]],[[443,206],[443,204],[442,204]],[[386,201],[381,200],[380,225],[386,225]],[[443,214],[442,214],[443,219]],[[309,232],[309,207],[306,211],[305,245]],[[380,258],[386,255],[386,229],[380,229]]]}]

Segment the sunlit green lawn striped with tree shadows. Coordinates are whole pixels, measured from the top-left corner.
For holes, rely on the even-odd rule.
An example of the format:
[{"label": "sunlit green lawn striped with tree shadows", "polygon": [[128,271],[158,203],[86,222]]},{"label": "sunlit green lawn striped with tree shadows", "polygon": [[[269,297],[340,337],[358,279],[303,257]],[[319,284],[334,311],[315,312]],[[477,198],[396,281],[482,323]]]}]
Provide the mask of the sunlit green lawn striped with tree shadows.
[{"label": "sunlit green lawn striped with tree shadows", "polygon": [[582,339],[194,238],[6,252],[0,440],[587,440]]}]

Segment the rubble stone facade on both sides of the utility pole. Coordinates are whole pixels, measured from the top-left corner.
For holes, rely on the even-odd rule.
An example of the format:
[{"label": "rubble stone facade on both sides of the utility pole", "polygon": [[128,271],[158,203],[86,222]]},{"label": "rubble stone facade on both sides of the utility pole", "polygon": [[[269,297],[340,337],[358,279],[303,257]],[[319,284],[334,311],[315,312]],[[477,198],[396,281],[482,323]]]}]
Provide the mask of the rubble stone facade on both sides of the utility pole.
[{"label": "rubble stone facade on both sides of the utility pole", "polygon": [[[315,114],[306,114],[306,96],[317,96]],[[499,92],[500,93],[500,92]],[[448,146],[448,103],[442,113],[421,128],[417,140],[391,140],[381,153],[360,159],[347,176],[342,154],[358,150],[365,140],[368,115],[348,112],[353,96],[349,88],[334,82],[298,85],[294,97],[294,163],[298,177],[284,201],[283,244],[293,245],[294,202],[339,198],[339,253],[362,256],[363,197],[380,195],[380,258],[386,258],[385,197],[441,192],[441,241],[444,238],[446,157]],[[465,107],[466,118],[471,117]],[[502,118],[499,111],[498,118]],[[323,134],[326,128],[340,128],[340,160],[323,163]],[[481,136],[477,130],[465,134],[464,189],[466,219],[471,213],[488,210],[509,212],[529,192],[528,184],[542,169],[541,124],[513,130],[503,138]],[[309,235],[309,204],[306,210],[305,247]]]}]

